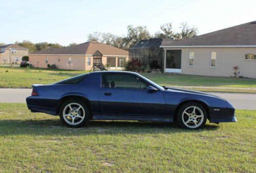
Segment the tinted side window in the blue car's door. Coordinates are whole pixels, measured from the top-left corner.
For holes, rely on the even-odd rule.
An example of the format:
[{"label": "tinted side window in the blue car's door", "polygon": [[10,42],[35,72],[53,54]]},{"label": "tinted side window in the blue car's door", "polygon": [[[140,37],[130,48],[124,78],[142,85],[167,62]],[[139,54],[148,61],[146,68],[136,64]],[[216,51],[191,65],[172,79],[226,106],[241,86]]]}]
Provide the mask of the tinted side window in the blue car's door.
[{"label": "tinted side window in the blue car's door", "polygon": [[102,87],[146,90],[148,83],[136,75],[124,73],[103,73]]}]

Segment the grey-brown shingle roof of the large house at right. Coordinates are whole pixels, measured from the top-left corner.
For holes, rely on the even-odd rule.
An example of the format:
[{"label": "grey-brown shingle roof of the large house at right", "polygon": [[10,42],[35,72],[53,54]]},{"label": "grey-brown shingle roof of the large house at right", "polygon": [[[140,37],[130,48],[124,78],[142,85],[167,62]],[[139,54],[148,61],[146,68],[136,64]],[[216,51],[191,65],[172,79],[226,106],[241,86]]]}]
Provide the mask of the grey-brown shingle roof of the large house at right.
[{"label": "grey-brown shingle roof of the large house at right", "polygon": [[171,47],[256,47],[256,21],[195,36],[181,41],[162,44]]}]

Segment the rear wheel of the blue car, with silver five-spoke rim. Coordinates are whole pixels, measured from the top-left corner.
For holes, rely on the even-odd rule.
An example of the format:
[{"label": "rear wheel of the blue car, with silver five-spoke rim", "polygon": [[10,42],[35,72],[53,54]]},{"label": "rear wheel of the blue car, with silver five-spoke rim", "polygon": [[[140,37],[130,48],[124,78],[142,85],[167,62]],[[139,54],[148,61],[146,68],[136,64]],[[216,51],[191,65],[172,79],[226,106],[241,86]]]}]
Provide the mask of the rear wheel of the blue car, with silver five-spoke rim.
[{"label": "rear wheel of the blue car, with silver five-spoke rim", "polygon": [[70,99],[61,104],[59,117],[68,127],[81,127],[89,120],[88,106],[78,99]]}]

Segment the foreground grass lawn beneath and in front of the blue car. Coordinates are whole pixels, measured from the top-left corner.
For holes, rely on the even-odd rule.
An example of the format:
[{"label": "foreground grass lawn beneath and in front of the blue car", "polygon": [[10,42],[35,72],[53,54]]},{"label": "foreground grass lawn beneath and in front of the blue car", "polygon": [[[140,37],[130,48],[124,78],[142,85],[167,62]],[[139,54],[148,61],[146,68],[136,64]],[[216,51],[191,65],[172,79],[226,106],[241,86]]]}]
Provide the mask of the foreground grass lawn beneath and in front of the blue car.
[{"label": "foreground grass lawn beneath and in front of the blue car", "polygon": [[0,103],[3,172],[255,172],[256,111],[237,123],[189,131],[174,123],[91,121],[63,126],[58,117]]}]

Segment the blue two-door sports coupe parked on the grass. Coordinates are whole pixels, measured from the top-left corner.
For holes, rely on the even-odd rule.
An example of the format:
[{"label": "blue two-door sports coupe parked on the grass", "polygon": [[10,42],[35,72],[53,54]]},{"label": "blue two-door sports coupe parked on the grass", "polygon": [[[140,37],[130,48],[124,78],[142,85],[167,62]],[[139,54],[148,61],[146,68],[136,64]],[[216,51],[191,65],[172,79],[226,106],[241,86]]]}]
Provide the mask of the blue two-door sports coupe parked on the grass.
[{"label": "blue two-door sports coupe parked on the grass", "polygon": [[138,73],[100,71],[53,84],[32,85],[31,112],[59,115],[63,124],[80,127],[89,120],[177,122],[188,129],[236,122],[234,107],[207,93],[161,87]]}]

